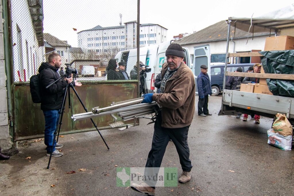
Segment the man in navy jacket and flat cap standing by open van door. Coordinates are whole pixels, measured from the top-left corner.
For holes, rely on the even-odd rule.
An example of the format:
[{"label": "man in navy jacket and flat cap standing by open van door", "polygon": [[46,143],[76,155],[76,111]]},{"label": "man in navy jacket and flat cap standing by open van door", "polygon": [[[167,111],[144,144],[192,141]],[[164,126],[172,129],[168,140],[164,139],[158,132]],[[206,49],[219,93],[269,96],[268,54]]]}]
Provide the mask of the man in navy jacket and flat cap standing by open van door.
[{"label": "man in navy jacket and flat cap standing by open van door", "polygon": [[197,77],[197,88],[198,88],[198,115],[199,116],[211,116],[208,112],[208,95],[212,94],[211,83],[207,74],[208,67],[201,65],[201,72]]}]

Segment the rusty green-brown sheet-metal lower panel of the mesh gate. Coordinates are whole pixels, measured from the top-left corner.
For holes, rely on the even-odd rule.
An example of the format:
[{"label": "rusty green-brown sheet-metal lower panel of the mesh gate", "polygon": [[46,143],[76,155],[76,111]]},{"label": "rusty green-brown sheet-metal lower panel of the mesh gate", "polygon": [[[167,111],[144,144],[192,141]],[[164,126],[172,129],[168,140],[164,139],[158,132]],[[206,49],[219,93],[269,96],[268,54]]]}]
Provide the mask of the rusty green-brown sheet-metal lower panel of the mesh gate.
[{"label": "rusty green-brown sheet-metal lower panel of the mesh gate", "polygon": [[[30,87],[26,85],[14,86],[14,141],[34,139],[44,137],[45,120],[40,103],[33,103],[31,99]],[[93,107],[106,107],[111,102],[133,99],[137,97],[136,82],[129,83],[83,83],[83,86],[76,87],[76,91],[81,98],[83,104],[88,111]],[[68,98],[65,105],[65,113],[63,115],[60,133],[70,134],[78,132],[86,132],[94,130],[91,120],[72,121],[71,115],[76,113],[84,113],[85,110],[78,98],[71,89],[71,108],[69,109]],[[97,123],[98,129],[111,128],[109,124],[114,119],[110,116],[93,118]],[[95,129],[96,130],[96,129]]]}]

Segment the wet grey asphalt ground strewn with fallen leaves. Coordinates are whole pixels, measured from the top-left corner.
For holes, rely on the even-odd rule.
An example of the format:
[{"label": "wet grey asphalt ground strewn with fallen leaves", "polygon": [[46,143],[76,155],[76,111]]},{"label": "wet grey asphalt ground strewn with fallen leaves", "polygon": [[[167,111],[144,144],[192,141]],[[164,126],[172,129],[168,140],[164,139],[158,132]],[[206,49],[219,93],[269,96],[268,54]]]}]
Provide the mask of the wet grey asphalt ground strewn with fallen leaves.
[{"label": "wet grey asphalt ground strewn with fallen leaves", "polygon": [[[294,152],[267,144],[272,119],[261,117],[258,125],[254,119],[218,116],[221,96],[210,97],[208,104],[213,115],[198,116],[196,109],[189,129],[191,181],[157,187],[156,195],[294,195]],[[117,187],[116,168],[145,166],[153,136],[149,122],[101,130],[110,150],[96,131],[65,135],[59,138],[64,156],[52,158],[49,170],[44,140],[22,141],[17,155],[0,162],[0,195],[145,195]],[[172,142],[161,167],[182,172]]]}]

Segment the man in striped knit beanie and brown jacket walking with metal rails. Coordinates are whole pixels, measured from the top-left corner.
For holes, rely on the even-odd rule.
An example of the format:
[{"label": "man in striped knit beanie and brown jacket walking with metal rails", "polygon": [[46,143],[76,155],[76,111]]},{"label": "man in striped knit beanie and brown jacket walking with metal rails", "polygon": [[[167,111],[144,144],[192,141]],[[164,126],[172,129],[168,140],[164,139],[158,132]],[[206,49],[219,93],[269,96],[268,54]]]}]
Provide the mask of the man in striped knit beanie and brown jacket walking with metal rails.
[{"label": "man in striped knit beanie and brown jacket walking with metal rails", "polygon": [[[156,101],[162,106],[154,124],[151,150],[146,162],[146,170],[155,174],[160,167],[166,146],[172,140],[176,146],[183,169],[179,182],[191,179],[191,160],[188,146],[188,130],[195,111],[195,78],[191,69],[183,62],[184,52],[181,45],[172,43],[166,50],[168,66],[161,70],[160,93],[143,95],[142,103]],[[149,174],[148,174],[149,175]],[[131,188],[142,193],[154,195],[156,182],[132,184]]]}]

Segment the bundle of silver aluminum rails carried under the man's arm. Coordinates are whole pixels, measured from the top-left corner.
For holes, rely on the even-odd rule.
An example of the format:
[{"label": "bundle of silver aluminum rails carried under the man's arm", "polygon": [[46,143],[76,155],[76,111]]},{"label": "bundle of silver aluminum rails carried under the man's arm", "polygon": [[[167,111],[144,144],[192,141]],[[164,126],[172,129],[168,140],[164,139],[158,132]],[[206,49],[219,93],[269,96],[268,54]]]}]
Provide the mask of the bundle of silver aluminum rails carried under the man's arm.
[{"label": "bundle of silver aluminum rails carried under the man's arm", "polygon": [[[133,118],[141,117],[143,115],[157,113],[160,106],[156,102],[152,102],[152,103],[139,103],[138,102],[138,101],[141,102],[142,100],[143,100],[143,98],[137,98],[137,99],[131,99],[131,100],[127,100],[127,101],[112,103],[111,106],[106,107],[106,108],[99,109],[98,107],[96,107],[96,108],[93,108],[92,112],[74,114],[71,118],[74,121],[76,121],[76,120],[84,120],[84,119],[88,119],[88,118],[119,113],[119,116],[123,120],[130,120]],[[113,106],[115,106],[115,108],[113,108]],[[103,111],[103,112],[97,113],[97,111]]]}]

